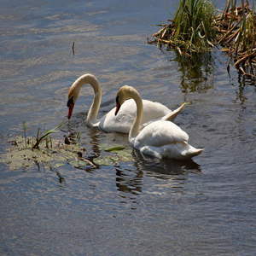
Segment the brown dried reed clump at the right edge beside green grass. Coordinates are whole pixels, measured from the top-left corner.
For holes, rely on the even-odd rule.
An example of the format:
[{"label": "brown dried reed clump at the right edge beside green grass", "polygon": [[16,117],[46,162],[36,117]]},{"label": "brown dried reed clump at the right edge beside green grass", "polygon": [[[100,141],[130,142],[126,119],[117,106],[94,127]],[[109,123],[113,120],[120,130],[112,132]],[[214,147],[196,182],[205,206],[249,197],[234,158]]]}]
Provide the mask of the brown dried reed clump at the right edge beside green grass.
[{"label": "brown dried reed clump at the right edge beside green grass", "polygon": [[[231,6],[230,6],[231,4]],[[228,1],[224,12],[216,17],[218,44],[224,48],[230,61],[241,73],[255,76],[255,26],[256,15],[249,3],[241,1],[241,6]],[[228,70],[230,62],[228,64]]]}]

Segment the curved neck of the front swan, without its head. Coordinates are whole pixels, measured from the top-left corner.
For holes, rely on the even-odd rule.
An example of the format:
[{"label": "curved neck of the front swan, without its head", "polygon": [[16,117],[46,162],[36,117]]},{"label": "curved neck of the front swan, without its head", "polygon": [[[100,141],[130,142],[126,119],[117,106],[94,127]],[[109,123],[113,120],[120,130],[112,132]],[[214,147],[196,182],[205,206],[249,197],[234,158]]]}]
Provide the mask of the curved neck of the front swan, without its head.
[{"label": "curved neck of the front swan, without its head", "polygon": [[143,119],[143,100],[137,90],[134,90],[130,96],[134,99],[137,105],[136,118],[134,119],[131,125],[131,130],[129,132],[129,142],[131,143],[132,139],[137,137],[137,135],[139,134],[140,125]]}]

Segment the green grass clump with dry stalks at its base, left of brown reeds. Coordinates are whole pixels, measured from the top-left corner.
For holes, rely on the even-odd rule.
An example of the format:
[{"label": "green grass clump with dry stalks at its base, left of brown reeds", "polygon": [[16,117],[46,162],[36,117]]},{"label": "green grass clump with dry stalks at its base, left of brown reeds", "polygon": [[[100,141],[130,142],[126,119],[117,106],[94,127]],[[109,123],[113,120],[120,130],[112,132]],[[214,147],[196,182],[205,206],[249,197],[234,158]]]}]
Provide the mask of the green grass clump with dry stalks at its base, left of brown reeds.
[{"label": "green grass clump with dry stalks at its base, left of brown reeds", "polygon": [[173,20],[153,35],[158,44],[192,54],[212,48],[216,42],[216,10],[205,0],[181,0]]}]

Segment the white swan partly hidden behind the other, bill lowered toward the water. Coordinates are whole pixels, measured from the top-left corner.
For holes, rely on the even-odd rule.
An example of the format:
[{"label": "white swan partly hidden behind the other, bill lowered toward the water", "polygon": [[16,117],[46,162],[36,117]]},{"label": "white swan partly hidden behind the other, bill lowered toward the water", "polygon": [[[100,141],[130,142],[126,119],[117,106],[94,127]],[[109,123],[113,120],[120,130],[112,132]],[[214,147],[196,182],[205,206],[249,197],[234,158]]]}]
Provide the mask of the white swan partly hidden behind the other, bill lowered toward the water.
[{"label": "white swan partly hidden behind the other, bill lowered toward the water", "polygon": [[[101,100],[102,100],[102,90],[101,86],[96,79],[96,77],[90,73],[86,73],[79,77],[68,92],[68,101],[67,107],[69,108],[67,118],[70,119],[73,106],[79,97],[79,92],[81,87],[84,84],[90,84],[94,89],[94,99],[90,106],[90,110],[87,114],[86,125],[90,127],[99,127],[103,131],[112,132],[118,131],[123,133],[129,133],[131,124],[136,116],[136,104],[133,100],[126,101],[123,105],[122,111],[119,112],[119,116],[114,115],[115,108],[113,108],[110,112],[105,114],[102,119],[97,119],[97,113],[99,111]],[[184,105],[176,110],[172,111],[166,106],[160,104],[159,102],[150,102],[147,100],[143,100],[143,119],[142,124],[146,125],[152,119],[163,118],[166,120],[173,120],[176,118],[177,113],[179,113]],[[143,128],[143,125],[141,128]]]}]

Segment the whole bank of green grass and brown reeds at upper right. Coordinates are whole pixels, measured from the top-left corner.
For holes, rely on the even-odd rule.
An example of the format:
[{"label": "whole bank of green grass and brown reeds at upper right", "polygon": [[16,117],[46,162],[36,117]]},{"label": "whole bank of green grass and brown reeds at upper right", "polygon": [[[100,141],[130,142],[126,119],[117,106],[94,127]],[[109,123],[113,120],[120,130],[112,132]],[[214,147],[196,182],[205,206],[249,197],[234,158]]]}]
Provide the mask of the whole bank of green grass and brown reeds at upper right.
[{"label": "whole bank of green grass and brown reeds at upper right", "polygon": [[209,52],[216,48],[223,51],[230,62],[244,75],[256,77],[256,15],[248,1],[236,7],[236,0],[227,0],[224,11],[212,2],[181,0],[172,20],[161,24],[160,31],[152,35],[148,44],[175,49],[179,55]]}]

